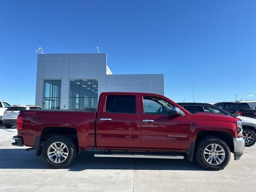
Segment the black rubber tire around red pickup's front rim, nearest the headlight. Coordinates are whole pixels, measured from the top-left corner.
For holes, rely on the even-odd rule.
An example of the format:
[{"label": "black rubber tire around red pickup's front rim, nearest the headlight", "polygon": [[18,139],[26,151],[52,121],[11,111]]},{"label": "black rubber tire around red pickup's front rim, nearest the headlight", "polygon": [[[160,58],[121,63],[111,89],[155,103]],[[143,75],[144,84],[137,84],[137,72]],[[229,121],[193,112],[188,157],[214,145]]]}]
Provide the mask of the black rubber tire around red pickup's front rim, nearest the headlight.
[{"label": "black rubber tire around red pickup's front rim, nearest the headlight", "polygon": [[[218,144],[219,146],[221,146],[223,148],[223,150],[225,152],[225,155],[224,155],[224,158],[223,158],[222,162],[220,164],[218,164],[218,165],[217,164],[216,165],[212,165],[212,164],[206,162],[206,159],[204,158],[204,150],[210,144]],[[224,169],[228,165],[228,163],[230,161],[230,149],[229,149],[228,145],[226,144],[226,142],[224,142],[224,140],[222,140],[222,139],[220,139],[218,137],[214,137],[214,136],[210,137],[209,136],[209,137],[203,138],[202,140],[199,141],[199,143],[197,144],[195,150],[196,150],[195,151],[196,161],[203,168],[208,169],[208,170],[214,170],[214,171],[222,170],[222,169]],[[215,152],[214,152],[215,156],[217,155],[218,157],[221,157],[218,154],[215,154]],[[216,161],[214,159],[211,162],[212,163],[216,163],[218,161]]]}]

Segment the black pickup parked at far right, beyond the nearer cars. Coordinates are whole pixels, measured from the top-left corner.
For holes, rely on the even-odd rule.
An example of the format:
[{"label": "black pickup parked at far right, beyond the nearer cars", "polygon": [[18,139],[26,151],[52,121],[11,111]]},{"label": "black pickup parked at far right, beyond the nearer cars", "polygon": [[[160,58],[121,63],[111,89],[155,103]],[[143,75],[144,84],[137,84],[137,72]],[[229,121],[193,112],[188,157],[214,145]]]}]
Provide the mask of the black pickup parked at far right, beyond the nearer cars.
[{"label": "black pickup parked at far right, beyond the nearer cars", "polygon": [[222,108],[232,114],[237,114],[239,116],[245,116],[256,119],[256,110],[250,109],[248,103],[241,102],[220,102],[214,104],[218,108]]}]

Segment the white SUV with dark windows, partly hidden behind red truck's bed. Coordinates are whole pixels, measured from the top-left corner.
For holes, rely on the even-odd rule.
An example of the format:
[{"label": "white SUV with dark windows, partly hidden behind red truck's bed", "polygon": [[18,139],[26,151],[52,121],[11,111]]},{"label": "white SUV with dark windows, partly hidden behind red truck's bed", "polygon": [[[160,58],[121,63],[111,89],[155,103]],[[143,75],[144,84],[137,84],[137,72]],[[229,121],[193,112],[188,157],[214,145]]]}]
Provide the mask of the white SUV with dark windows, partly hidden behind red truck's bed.
[{"label": "white SUV with dark windows, partly hidden behind red truck's bed", "polygon": [[36,105],[12,105],[6,109],[3,115],[3,124],[6,128],[11,128],[13,125],[16,125],[17,117],[20,113],[20,110],[38,110],[42,109],[40,106]]}]

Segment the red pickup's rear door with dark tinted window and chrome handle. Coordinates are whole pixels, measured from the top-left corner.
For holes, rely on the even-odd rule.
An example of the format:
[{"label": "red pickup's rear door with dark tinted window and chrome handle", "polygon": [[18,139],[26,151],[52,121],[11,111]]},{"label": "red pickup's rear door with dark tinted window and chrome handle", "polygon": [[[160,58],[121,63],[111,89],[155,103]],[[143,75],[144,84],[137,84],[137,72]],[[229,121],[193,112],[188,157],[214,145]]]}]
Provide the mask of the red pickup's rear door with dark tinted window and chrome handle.
[{"label": "red pickup's rear door with dark tinted window and chrome handle", "polygon": [[98,148],[139,148],[140,113],[136,94],[103,94],[98,106]]}]

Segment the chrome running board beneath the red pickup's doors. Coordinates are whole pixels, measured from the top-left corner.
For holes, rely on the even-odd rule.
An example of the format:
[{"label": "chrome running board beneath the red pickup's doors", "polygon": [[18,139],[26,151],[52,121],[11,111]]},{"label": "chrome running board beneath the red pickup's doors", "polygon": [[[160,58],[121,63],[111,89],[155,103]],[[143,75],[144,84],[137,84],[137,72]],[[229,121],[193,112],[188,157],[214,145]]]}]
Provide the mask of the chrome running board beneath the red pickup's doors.
[{"label": "chrome running board beneath the red pickup's doors", "polygon": [[137,154],[94,154],[94,157],[123,157],[123,158],[155,158],[155,159],[184,159],[177,155],[137,155]]}]

